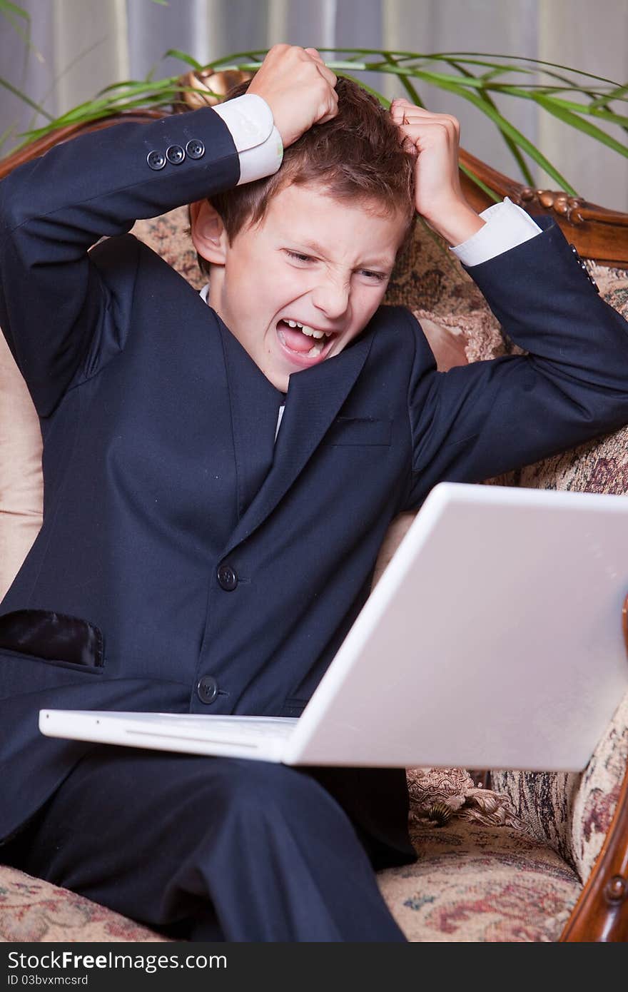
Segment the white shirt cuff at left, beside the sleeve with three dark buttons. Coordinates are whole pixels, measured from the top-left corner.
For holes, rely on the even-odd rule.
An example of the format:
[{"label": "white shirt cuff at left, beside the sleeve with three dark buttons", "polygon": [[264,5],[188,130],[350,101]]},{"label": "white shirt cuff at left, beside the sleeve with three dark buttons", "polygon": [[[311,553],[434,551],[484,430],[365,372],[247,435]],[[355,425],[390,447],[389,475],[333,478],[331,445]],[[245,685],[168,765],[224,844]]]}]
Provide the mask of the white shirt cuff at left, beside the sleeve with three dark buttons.
[{"label": "white shirt cuff at left, beside the sleeve with three dark buttons", "polygon": [[238,186],[277,172],[284,158],[284,145],[266,100],[257,93],[244,93],[216,104],[213,110],[231,132],[240,159]]}]

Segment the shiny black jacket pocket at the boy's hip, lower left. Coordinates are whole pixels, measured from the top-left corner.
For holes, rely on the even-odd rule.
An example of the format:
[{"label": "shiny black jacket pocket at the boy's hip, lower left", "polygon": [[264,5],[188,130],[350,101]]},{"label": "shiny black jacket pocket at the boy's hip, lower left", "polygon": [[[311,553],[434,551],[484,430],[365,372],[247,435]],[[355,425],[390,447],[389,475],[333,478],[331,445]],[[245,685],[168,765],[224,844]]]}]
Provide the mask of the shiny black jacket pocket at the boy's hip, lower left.
[{"label": "shiny black jacket pocket at the boy's hip, lower left", "polygon": [[0,616],[0,650],[86,672],[102,669],[104,661],[100,629],[54,610],[14,610]]}]

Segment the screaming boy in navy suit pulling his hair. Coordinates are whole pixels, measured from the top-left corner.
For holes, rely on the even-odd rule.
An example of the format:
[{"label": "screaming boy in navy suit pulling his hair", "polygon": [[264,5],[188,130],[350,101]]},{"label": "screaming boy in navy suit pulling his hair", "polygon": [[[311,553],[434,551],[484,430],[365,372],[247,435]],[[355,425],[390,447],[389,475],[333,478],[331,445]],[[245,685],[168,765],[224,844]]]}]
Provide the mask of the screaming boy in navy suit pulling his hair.
[{"label": "screaming boy in navy suit pulling his hair", "polygon": [[[403,769],[93,747],[37,720],[297,715],[397,513],[626,423],[625,321],[554,224],[470,209],[457,130],[276,46],[239,101],[0,185],[0,325],[46,473],[0,616],[4,860],[192,940],[404,939],[373,874],[416,858]],[[184,202],[204,299],[122,235]],[[415,211],[529,356],[442,375],[380,307]]]}]

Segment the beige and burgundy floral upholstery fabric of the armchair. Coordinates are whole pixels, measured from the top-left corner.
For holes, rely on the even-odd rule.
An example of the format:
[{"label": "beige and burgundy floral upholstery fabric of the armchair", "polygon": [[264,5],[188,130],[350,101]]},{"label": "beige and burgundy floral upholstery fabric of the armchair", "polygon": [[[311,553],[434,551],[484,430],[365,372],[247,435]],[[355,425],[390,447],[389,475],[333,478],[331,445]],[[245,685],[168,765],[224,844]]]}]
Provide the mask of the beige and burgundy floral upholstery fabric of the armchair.
[{"label": "beige and burgundy floral upholstery fabric of the armchair", "polygon": [[[181,208],[138,222],[134,233],[199,289],[206,279],[198,269],[187,226],[187,210]],[[606,299],[628,315],[627,274],[591,269]],[[398,262],[387,302],[416,312],[441,369],[520,350],[502,337],[455,257],[421,224],[412,250]],[[0,385],[9,375],[15,370],[0,354]],[[33,415],[29,412],[26,433],[36,447]],[[1,448],[0,436],[4,478]],[[37,450],[34,457],[40,457]],[[628,433],[619,431],[488,481],[628,493]],[[35,492],[24,501],[31,517],[37,499]],[[6,503],[0,486],[0,524],[6,511],[3,500]],[[412,519],[406,514],[392,525],[374,581]],[[32,520],[30,524],[32,528]],[[25,552],[26,547],[22,555]],[[20,561],[14,561],[14,570]],[[0,597],[2,580],[0,573]],[[409,769],[410,827],[419,859],[378,874],[384,899],[409,940],[557,940],[600,850],[627,759],[628,696],[582,775],[495,772],[493,790],[486,790],[464,769]],[[0,866],[0,940],[164,939],[87,899]]]}]

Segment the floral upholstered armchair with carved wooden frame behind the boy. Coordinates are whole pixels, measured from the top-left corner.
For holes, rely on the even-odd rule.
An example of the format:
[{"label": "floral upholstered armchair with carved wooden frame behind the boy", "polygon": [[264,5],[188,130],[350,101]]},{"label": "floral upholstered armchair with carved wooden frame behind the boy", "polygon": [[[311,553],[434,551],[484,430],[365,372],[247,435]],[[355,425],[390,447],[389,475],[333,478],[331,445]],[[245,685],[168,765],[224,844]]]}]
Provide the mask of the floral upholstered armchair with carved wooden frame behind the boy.
[{"label": "floral upholstered armchair with carved wooden frame behind the boy", "polygon": [[[158,115],[138,111],[127,119]],[[115,123],[108,119],[91,127]],[[65,128],[1,162],[0,179],[78,130]],[[628,315],[627,214],[563,193],[527,189],[466,153],[462,161],[500,195],[509,195],[532,213],[552,213],[589,260],[600,292]],[[462,182],[476,209],[489,205],[485,193],[464,176]],[[134,233],[200,288],[205,280],[185,234],[187,223],[181,208],[138,222]],[[515,348],[446,246],[421,224],[411,249],[399,260],[387,302],[417,312],[441,369]],[[628,428],[486,481],[626,496]],[[42,494],[37,416],[0,335],[0,601],[39,530]],[[411,521],[405,515],[392,525],[374,581]],[[409,769],[411,832],[419,860],[378,875],[384,898],[408,938],[628,939],[627,766],[628,697],[581,775]],[[1,940],[166,939],[82,897],[3,867],[1,861],[0,846]]]}]

